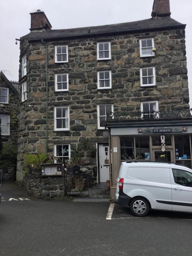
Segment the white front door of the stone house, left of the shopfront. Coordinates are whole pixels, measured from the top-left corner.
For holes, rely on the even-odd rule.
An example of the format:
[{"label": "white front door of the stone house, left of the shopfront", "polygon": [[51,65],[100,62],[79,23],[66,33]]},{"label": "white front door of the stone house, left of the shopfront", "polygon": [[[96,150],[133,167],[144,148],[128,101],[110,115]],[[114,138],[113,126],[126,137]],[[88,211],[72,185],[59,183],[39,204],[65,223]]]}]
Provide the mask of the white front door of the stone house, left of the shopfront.
[{"label": "white front door of the stone house, left of the shopfront", "polygon": [[109,146],[99,144],[99,181],[109,180]]}]

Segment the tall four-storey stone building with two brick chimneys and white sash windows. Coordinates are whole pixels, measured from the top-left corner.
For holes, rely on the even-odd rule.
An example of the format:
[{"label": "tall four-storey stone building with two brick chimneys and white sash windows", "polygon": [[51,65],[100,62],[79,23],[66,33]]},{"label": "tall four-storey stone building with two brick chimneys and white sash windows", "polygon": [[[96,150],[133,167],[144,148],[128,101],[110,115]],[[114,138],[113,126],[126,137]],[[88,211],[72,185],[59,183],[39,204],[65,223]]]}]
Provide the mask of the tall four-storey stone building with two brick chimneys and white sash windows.
[{"label": "tall four-storey stone building with two brick chimneys and white sash windows", "polygon": [[67,159],[87,138],[105,182],[107,113],[189,109],[185,25],[170,17],[169,0],[154,0],[150,19],[74,29],[53,30],[38,10],[20,50],[18,180],[22,152]]}]

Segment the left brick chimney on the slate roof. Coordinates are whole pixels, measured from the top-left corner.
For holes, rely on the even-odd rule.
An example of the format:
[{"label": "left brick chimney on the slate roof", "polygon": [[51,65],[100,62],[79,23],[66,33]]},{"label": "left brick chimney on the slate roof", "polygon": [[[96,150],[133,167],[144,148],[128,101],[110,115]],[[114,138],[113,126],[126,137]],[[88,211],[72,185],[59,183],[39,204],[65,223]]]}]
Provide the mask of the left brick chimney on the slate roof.
[{"label": "left brick chimney on the slate roof", "polygon": [[31,14],[31,28],[30,30],[38,30],[38,29],[51,29],[52,26],[47,19],[44,12],[41,10],[37,10],[36,12],[32,12]]}]

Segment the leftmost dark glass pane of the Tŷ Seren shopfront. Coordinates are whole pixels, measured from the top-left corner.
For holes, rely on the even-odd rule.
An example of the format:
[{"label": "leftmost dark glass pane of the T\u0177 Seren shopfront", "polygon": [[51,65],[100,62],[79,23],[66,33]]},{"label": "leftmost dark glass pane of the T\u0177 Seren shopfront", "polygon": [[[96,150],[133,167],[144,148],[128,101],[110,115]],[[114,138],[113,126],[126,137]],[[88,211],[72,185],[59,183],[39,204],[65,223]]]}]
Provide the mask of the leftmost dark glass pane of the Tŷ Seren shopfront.
[{"label": "leftmost dark glass pane of the T\u0177 Seren shopfront", "polygon": [[134,160],[134,137],[121,137],[121,160]]}]

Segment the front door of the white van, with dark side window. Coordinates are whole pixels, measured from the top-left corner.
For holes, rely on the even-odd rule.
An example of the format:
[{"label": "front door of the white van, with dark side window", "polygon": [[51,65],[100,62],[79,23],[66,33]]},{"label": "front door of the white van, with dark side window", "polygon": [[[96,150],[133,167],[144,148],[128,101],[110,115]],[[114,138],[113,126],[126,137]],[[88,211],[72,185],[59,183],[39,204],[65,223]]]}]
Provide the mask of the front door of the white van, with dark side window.
[{"label": "front door of the white van, with dark side window", "polygon": [[179,169],[171,169],[172,210],[192,212],[192,173]]}]

